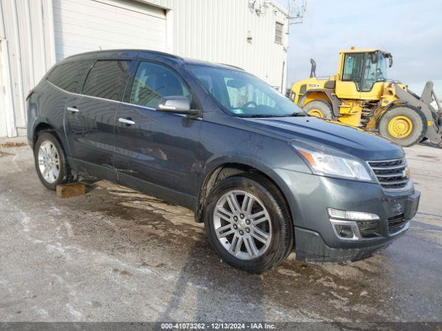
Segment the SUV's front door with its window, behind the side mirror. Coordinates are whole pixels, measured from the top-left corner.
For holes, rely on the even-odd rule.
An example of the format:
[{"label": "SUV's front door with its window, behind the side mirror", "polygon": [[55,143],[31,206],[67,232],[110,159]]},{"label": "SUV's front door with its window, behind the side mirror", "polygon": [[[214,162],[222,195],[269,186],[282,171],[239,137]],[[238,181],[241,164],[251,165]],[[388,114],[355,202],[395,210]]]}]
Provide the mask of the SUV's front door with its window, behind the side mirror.
[{"label": "SUV's front door with its window, behind the side mirror", "polygon": [[191,203],[201,121],[157,111],[160,99],[191,92],[171,68],[140,62],[115,120],[115,168],[128,186]]}]

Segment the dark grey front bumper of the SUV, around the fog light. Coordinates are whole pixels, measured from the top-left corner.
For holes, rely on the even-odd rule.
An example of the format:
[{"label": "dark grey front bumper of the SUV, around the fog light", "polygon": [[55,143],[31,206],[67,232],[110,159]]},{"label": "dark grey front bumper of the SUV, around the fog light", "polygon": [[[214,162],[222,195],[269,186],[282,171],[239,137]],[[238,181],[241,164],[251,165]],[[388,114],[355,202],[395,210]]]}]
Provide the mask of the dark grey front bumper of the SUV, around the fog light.
[{"label": "dark grey front bumper of the SUV, around the fog light", "polygon": [[[278,172],[289,186],[296,259],[309,263],[343,263],[371,256],[405,233],[419,205],[420,192],[413,187],[405,192],[385,192],[377,183]],[[378,233],[358,241],[342,240],[327,208],[377,214]],[[402,223],[394,227],[398,219]]]}]

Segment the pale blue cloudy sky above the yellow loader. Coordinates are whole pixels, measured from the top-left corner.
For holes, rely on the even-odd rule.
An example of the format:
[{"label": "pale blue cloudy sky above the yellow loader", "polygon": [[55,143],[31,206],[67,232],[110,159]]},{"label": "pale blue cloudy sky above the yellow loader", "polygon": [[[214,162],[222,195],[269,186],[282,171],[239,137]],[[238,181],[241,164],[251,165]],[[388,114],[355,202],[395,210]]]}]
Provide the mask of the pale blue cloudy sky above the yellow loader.
[{"label": "pale blue cloudy sky above the yellow loader", "polygon": [[289,83],[309,77],[310,58],[318,76],[336,74],[338,51],[351,46],[391,52],[390,79],[419,95],[433,81],[442,99],[441,0],[307,0],[303,23],[290,26]]}]

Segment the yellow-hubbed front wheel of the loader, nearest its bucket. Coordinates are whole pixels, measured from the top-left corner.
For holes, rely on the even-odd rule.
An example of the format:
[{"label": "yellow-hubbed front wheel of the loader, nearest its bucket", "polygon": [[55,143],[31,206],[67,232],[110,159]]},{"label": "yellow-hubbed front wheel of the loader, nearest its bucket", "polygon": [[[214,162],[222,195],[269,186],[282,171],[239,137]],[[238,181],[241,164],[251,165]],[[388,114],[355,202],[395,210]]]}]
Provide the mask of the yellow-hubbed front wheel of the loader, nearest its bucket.
[{"label": "yellow-hubbed front wheel of the loader, nearest its bucket", "polygon": [[420,143],[427,133],[423,112],[407,106],[387,110],[378,121],[379,134],[403,147]]}]

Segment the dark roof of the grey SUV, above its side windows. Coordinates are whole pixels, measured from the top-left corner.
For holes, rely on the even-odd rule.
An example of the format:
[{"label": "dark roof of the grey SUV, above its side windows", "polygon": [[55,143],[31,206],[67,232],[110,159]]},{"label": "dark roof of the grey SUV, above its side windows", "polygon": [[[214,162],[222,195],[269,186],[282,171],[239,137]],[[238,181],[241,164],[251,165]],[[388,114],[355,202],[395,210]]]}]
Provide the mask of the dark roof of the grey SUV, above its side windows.
[{"label": "dark roof of the grey SUV, above its side windows", "polygon": [[[155,55],[158,57],[164,57],[165,59],[174,59],[175,61],[182,61],[183,63],[187,63],[187,64],[195,65],[195,66],[206,66],[206,67],[213,67],[213,68],[242,70],[242,68],[239,68],[236,66],[231,66],[229,64],[213,63],[213,62],[209,62],[209,61],[183,58],[183,57],[179,57],[175,54],[160,52],[157,50],[142,50],[142,49],[95,50],[93,52],[85,52],[85,53],[71,55],[70,57],[66,57],[66,59],[64,59],[64,61],[89,59],[91,57],[99,58],[99,57],[121,57],[121,56],[123,56],[123,57],[131,58],[131,57],[139,57],[140,54],[151,54],[151,55]],[[244,70],[242,70],[242,71],[244,71]]]}]

